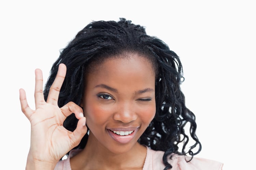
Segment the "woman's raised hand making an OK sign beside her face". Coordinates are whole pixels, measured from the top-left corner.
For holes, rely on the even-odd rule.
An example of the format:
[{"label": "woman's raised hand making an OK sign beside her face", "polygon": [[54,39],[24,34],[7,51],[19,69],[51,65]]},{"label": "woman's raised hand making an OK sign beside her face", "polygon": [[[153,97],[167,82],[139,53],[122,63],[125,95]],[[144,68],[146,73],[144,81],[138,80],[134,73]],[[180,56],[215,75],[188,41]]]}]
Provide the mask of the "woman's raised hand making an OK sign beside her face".
[{"label": "woman's raised hand making an OK sign beside her face", "polygon": [[[35,70],[35,110],[28,106],[25,90],[19,90],[22,112],[31,123],[28,169],[46,167],[53,169],[58,160],[77,146],[87,132],[86,119],[80,106],[69,102],[61,108],[58,107],[59,91],[65,75],[66,66],[60,64],[57,76],[49,90],[47,101],[45,101],[42,71]],[[63,127],[63,121],[72,113],[79,119],[74,132]]]}]

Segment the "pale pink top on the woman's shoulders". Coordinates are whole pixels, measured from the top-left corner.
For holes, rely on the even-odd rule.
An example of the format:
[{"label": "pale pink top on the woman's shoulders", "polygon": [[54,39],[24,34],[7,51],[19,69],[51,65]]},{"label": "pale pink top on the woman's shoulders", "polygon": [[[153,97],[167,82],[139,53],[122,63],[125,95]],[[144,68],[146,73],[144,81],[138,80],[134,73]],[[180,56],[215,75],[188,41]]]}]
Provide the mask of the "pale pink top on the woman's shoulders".
[{"label": "pale pink top on the woman's shoulders", "polygon": [[[65,160],[61,160],[57,163],[54,170],[71,170],[70,157],[76,155],[81,150],[71,150],[69,156]],[[147,148],[147,155],[143,170],[163,170],[165,165],[163,164],[162,157],[163,151],[154,151]],[[189,160],[189,157],[187,157]],[[196,158],[194,157],[190,162],[186,162],[185,156],[174,154],[172,159],[168,162],[172,165],[171,170],[222,170],[223,163],[216,162],[214,160]]]}]

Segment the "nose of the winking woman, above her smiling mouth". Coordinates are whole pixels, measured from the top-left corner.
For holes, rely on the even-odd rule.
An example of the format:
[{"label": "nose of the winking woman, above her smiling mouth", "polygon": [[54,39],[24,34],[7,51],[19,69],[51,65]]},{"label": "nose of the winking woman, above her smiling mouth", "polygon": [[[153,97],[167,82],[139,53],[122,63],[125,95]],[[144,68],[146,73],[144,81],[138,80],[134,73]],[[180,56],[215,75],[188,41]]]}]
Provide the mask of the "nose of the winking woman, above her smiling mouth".
[{"label": "nose of the winking woman, above her smiling mouth", "polygon": [[118,105],[113,119],[123,123],[129,123],[137,119],[137,114],[132,104],[123,103]]}]

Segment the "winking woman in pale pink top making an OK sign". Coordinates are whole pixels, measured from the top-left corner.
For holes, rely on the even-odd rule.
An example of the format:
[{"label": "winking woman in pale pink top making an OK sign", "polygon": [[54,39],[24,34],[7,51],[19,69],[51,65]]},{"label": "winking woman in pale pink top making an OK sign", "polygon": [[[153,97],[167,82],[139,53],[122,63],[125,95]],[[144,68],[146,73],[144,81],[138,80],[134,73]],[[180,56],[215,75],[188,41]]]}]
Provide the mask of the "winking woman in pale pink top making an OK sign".
[{"label": "winking woman in pale pink top making an OK sign", "polygon": [[222,168],[193,158],[201,143],[180,90],[181,62],[140,25],[88,24],[61,51],[44,91],[41,70],[35,78],[34,111],[20,89],[31,122],[27,169]]}]

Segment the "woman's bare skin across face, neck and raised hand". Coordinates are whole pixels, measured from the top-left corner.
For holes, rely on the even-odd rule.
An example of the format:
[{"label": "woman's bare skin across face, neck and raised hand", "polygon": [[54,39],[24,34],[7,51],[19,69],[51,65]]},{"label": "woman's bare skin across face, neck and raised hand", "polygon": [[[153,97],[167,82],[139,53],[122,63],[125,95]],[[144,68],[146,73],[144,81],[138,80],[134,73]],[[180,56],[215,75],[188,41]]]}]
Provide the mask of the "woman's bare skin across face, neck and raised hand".
[{"label": "woman's bare skin across face, neck and raised hand", "polygon": [[[70,159],[72,170],[143,168],[146,147],[137,140],[155,116],[155,72],[146,57],[127,55],[126,58],[110,58],[88,73],[80,104],[84,110],[72,102],[62,108],[57,107],[58,89],[66,73],[65,65],[60,65],[46,102],[41,93],[41,71],[36,70],[36,111],[26,107],[25,92],[20,90],[23,112],[31,122],[27,167],[53,169],[86,133],[86,117],[90,129],[88,141],[86,147]],[[45,115],[46,111],[49,115]],[[73,133],[62,126],[66,116],[72,112],[79,119]],[[37,147],[42,144],[40,141],[46,142],[47,152],[45,148],[38,151]]]}]

